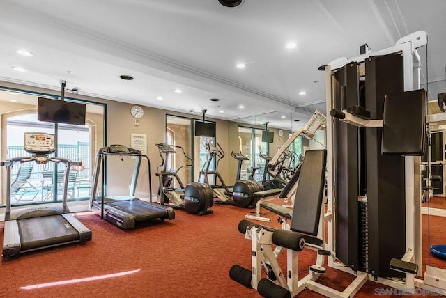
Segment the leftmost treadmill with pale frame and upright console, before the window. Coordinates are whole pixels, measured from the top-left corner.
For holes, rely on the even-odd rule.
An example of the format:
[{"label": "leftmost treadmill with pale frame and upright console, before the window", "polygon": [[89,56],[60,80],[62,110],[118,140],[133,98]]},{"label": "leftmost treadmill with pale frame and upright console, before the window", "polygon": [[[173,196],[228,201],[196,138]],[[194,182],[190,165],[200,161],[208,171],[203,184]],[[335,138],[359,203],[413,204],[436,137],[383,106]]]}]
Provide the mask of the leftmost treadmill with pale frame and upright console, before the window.
[{"label": "leftmost treadmill with pale frame and upright console, before the window", "polygon": [[[46,249],[68,243],[91,240],[91,230],[77,220],[67,207],[68,175],[71,166],[80,162],[71,162],[62,157],[49,157],[56,151],[54,134],[25,132],[24,150],[31,157],[15,157],[1,162],[6,168],[6,212],[3,237],[3,258],[18,256],[20,253]],[[26,162],[47,162],[66,164],[63,184],[62,206],[36,206],[26,209],[11,210],[10,180],[11,167]]]}]

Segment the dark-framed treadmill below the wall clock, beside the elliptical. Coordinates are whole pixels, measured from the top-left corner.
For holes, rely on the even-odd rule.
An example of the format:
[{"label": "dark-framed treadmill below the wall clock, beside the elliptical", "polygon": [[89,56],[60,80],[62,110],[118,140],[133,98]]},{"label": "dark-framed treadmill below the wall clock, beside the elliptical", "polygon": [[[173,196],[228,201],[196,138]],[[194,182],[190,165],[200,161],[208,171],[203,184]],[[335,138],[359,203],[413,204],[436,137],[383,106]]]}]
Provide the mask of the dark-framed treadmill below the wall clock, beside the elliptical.
[{"label": "dark-framed treadmill below the wall clock, beside the elliptical", "polygon": [[[98,191],[99,175],[105,168],[108,157],[135,157],[132,181],[130,182],[130,190],[128,195],[124,196],[106,196],[105,195],[105,171],[102,171],[102,189],[100,196],[96,196]],[[136,191],[139,168],[141,167],[141,159],[146,159],[148,164],[148,185],[150,201],[143,201],[134,196]],[[146,155],[142,155],[141,151],[128,148],[123,145],[111,145],[109,147],[100,148],[96,153],[95,168],[93,173],[93,184],[91,186],[90,210],[100,215],[102,219],[106,219],[119,228],[134,228],[137,223],[150,221],[152,219],[174,219],[175,211],[173,208],[152,203],[152,183],[151,183],[151,164],[150,159]]]}]

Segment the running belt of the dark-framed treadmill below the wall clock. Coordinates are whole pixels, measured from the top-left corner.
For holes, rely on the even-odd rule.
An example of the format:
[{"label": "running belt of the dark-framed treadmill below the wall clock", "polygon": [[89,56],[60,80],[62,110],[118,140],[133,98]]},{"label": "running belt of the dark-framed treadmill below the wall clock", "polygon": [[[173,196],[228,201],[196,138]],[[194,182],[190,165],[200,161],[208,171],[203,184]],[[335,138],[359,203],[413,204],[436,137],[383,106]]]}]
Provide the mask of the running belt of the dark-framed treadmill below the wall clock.
[{"label": "running belt of the dark-framed treadmill below the wall clock", "polygon": [[167,218],[167,210],[152,203],[141,201],[118,201],[109,202],[107,206],[114,207],[134,216],[135,221],[146,221],[148,219]]}]

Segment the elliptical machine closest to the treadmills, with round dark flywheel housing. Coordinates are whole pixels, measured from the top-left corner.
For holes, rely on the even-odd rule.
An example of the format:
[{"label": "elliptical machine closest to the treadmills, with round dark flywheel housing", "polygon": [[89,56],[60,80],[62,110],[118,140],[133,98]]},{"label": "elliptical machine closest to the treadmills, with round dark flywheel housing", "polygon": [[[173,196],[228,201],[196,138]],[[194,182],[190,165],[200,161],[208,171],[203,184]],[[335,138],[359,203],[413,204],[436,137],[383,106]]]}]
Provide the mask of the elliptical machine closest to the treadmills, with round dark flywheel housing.
[{"label": "elliptical machine closest to the treadmills, with round dark flywheel housing", "polygon": [[[183,182],[178,176],[178,171],[181,168],[192,166],[193,160],[186,154],[181,146],[169,145],[167,143],[155,144],[160,152],[161,164],[158,166],[156,175],[159,178],[160,189],[158,195],[160,196],[161,205],[169,205],[170,207],[180,207],[186,210],[187,213],[205,215],[213,211],[210,208],[213,205],[213,191],[209,185],[203,183],[191,183],[184,187]],[[167,160],[172,154],[176,154],[175,148],[180,149],[183,155],[189,162],[177,169],[167,169]],[[164,157],[163,157],[164,155]],[[176,180],[180,188],[173,187],[173,182]]]}]

